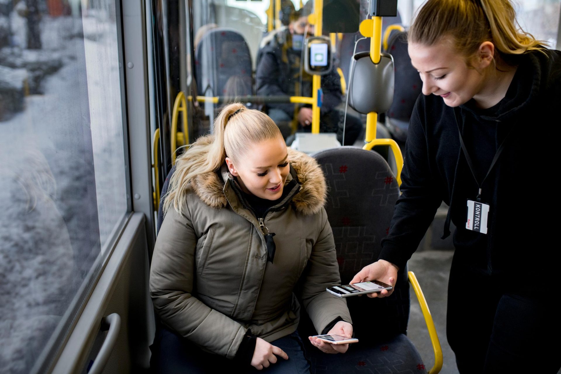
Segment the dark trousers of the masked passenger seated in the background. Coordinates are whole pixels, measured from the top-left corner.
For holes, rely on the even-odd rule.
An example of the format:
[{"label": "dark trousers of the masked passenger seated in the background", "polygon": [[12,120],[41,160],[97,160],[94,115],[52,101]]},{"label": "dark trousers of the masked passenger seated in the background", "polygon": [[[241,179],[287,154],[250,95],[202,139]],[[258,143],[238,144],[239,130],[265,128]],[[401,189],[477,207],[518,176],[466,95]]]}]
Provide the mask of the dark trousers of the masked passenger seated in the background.
[{"label": "dark trousers of the masked passenger seated in the background", "polygon": [[[280,133],[284,137],[284,140],[291,135],[292,128],[292,116],[288,116],[284,110],[271,108],[268,111],[269,117],[279,127]],[[343,110],[333,109],[330,112],[324,113],[320,117],[320,131],[321,132],[335,132],[337,133],[337,140],[342,145],[353,145],[362,131],[362,122],[360,118],[351,116],[347,114],[347,121],[345,125],[345,144],[343,144],[343,120],[345,112]],[[310,126],[299,126],[299,130],[302,132],[311,132],[312,127]]]}]

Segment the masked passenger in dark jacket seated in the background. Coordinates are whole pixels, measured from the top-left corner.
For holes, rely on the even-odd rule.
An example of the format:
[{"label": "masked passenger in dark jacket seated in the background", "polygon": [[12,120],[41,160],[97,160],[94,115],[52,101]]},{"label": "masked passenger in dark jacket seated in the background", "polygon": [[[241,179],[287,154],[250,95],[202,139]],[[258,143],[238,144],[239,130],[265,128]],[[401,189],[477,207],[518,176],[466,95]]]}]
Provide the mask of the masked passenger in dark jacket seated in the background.
[{"label": "masked passenger in dark jacket seated in the background", "polygon": [[[273,31],[261,43],[257,57],[257,95],[263,96],[312,96],[312,76],[304,71],[302,47],[307,36],[314,35],[314,26],[307,21],[313,1],[293,13],[288,27]],[[333,69],[321,77],[323,104],[320,108],[320,130],[336,132],[343,140],[344,111],[335,109],[342,100],[341,77]],[[267,104],[269,117],[279,126],[286,139],[291,134],[291,121],[295,116],[295,104]],[[304,131],[311,131],[312,108],[298,108],[298,123]],[[362,130],[360,119],[347,114],[345,145],[352,145]]]}]

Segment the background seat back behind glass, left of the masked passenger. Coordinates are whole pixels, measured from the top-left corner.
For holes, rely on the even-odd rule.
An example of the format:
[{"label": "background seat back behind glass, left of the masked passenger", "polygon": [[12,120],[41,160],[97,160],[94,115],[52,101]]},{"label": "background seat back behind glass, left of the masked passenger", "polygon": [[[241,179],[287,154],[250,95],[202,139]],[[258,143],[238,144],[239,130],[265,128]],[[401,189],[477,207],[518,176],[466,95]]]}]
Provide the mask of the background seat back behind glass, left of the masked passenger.
[{"label": "background seat back behind glass, left of the masked passenger", "polygon": [[[208,30],[197,44],[195,66],[199,95],[252,94],[250,49],[243,36],[234,29],[216,27]],[[236,82],[235,87],[231,85],[232,81]]]}]

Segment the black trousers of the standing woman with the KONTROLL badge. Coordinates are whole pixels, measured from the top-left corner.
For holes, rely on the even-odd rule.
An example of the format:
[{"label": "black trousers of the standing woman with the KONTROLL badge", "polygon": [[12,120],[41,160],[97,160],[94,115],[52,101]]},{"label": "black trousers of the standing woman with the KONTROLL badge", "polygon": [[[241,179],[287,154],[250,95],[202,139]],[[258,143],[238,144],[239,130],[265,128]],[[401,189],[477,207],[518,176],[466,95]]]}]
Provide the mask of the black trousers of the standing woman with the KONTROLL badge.
[{"label": "black trousers of the standing woman with the KONTROLL badge", "polygon": [[[459,257],[457,251],[447,313],[448,342],[459,372],[557,373],[558,291],[535,277],[526,279],[523,267],[532,264],[523,264],[523,259],[519,278],[505,279],[470,267]],[[532,287],[523,289],[524,284]]]}]

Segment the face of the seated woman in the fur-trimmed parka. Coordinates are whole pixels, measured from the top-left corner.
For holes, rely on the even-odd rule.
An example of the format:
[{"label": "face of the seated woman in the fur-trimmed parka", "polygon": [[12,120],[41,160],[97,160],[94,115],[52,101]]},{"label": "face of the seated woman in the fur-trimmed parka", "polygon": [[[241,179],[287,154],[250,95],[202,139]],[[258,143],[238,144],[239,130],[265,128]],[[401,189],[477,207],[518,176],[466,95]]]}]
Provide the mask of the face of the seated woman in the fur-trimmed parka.
[{"label": "face of the seated woman in the fur-trimmed parka", "polygon": [[252,145],[235,161],[227,157],[226,163],[244,192],[267,200],[282,196],[290,167],[281,136]]}]

